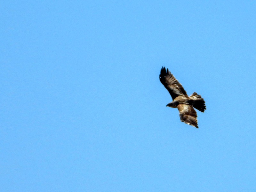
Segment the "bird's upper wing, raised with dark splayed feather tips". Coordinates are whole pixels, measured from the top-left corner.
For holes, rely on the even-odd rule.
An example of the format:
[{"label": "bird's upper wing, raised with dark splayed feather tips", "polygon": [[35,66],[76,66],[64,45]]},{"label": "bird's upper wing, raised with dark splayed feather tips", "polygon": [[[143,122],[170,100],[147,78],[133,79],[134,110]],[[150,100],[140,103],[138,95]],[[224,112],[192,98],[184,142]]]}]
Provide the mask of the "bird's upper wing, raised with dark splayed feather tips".
[{"label": "bird's upper wing, raised with dark splayed feather tips", "polygon": [[172,73],[168,70],[165,70],[165,67],[161,68],[159,79],[164,87],[168,90],[168,92],[172,96],[172,100],[180,95],[187,96],[187,92],[184,90],[179,81],[172,75]]}]

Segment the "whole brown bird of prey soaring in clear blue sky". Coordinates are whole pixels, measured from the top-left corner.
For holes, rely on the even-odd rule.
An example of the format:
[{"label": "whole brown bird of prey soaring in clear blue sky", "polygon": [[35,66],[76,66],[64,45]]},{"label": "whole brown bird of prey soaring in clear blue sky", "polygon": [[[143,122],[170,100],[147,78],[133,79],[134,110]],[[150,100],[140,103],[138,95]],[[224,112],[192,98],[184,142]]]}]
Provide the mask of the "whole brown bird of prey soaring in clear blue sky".
[{"label": "whole brown bird of prey soaring in clear blue sky", "polygon": [[168,103],[166,107],[178,108],[180,121],[198,128],[197,115],[194,108],[201,112],[206,109],[205,101],[201,95],[194,92],[188,97],[187,92],[168,68],[161,68],[159,79],[172,96],[172,102]]}]

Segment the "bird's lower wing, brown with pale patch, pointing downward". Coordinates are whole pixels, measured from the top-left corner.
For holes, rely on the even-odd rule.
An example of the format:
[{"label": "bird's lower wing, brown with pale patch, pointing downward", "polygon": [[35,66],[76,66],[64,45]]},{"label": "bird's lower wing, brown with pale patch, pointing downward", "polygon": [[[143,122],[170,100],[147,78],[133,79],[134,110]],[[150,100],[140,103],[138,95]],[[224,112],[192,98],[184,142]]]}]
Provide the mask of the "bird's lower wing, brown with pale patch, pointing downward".
[{"label": "bird's lower wing, brown with pale patch, pointing downward", "polygon": [[198,128],[196,111],[192,105],[180,104],[177,108],[180,112],[180,121]]}]

